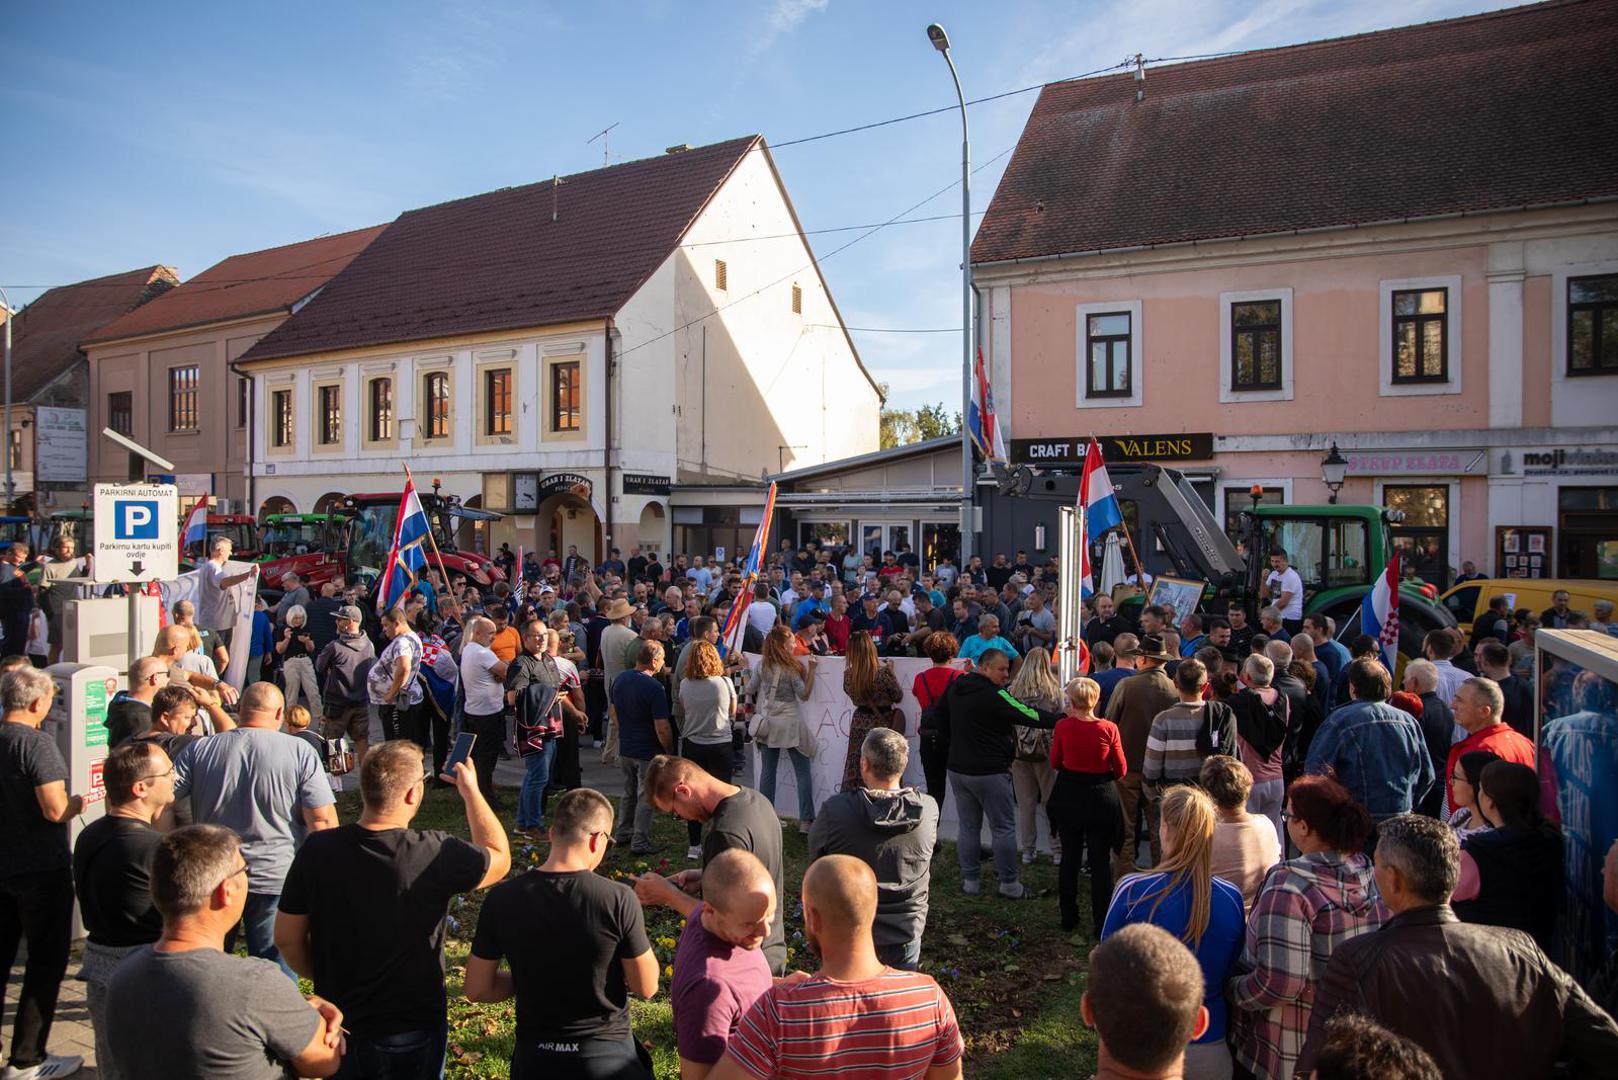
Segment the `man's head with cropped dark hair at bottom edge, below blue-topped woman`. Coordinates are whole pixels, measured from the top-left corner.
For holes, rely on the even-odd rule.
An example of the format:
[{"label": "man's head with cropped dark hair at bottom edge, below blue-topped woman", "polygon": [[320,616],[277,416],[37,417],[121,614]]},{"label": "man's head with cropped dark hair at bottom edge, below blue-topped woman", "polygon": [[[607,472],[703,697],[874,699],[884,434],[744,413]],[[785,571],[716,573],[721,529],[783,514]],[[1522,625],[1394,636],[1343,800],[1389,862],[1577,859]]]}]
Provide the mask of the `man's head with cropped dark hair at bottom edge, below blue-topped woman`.
[{"label": "man's head with cropped dark hair at bottom edge, below blue-topped woman", "polygon": [[1197,959],[1150,923],[1125,926],[1091,952],[1079,1015],[1095,1028],[1097,1080],[1180,1080],[1209,1010]]}]

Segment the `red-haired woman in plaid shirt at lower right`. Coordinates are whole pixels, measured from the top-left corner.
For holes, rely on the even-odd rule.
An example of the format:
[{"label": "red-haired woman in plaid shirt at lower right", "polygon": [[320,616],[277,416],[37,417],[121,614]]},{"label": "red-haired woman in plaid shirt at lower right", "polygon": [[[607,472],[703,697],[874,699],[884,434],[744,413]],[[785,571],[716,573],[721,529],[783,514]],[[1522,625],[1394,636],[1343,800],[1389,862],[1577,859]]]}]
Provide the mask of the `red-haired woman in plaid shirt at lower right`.
[{"label": "red-haired woman in plaid shirt at lower right", "polygon": [[1370,814],[1348,789],[1325,776],[1299,777],[1281,819],[1302,855],[1264,879],[1228,988],[1236,1061],[1260,1080],[1293,1080],[1327,960],[1388,918],[1362,853]]}]

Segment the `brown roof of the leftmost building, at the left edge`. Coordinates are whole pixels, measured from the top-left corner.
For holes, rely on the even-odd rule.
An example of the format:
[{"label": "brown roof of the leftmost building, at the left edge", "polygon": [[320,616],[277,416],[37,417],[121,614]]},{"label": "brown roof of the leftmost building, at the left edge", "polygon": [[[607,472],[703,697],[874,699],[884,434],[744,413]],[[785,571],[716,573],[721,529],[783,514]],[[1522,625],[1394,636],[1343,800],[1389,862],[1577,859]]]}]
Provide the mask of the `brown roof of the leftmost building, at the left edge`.
[{"label": "brown roof of the leftmost building, at the left edge", "polygon": [[173,269],[149,266],[42,293],[18,313],[11,330],[11,398],[32,398],[84,359],[79,342],[178,283]]}]

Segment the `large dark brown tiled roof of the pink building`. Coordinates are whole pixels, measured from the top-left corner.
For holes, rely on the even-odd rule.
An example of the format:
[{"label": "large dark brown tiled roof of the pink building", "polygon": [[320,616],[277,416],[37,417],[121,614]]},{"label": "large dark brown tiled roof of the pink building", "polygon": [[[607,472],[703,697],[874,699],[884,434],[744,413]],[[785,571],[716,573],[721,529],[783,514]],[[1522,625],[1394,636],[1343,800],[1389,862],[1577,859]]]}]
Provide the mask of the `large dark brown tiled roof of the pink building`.
[{"label": "large dark brown tiled roof of the pink building", "polygon": [[1618,196],[1618,0],[1047,86],[974,262]]}]

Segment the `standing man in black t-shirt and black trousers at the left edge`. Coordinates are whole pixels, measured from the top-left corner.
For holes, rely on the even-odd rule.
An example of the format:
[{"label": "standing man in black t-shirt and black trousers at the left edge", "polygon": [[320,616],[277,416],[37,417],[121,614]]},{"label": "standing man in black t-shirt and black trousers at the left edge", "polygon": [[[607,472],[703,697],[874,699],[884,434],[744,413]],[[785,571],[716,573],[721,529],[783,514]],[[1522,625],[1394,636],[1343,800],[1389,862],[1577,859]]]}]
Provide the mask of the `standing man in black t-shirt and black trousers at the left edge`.
[{"label": "standing man in black t-shirt and black trousers at the left edge", "polygon": [[57,993],[68,970],[73,929],[73,855],[68,823],[95,797],[68,795],[68,766],[57,740],[39,730],[57,696],[57,683],[36,667],[0,677],[0,949],[5,970],[28,947],[23,986],[11,1022],[6,1077],[68,1077],[76,1056],[45,1051],[57,1015]]}]

